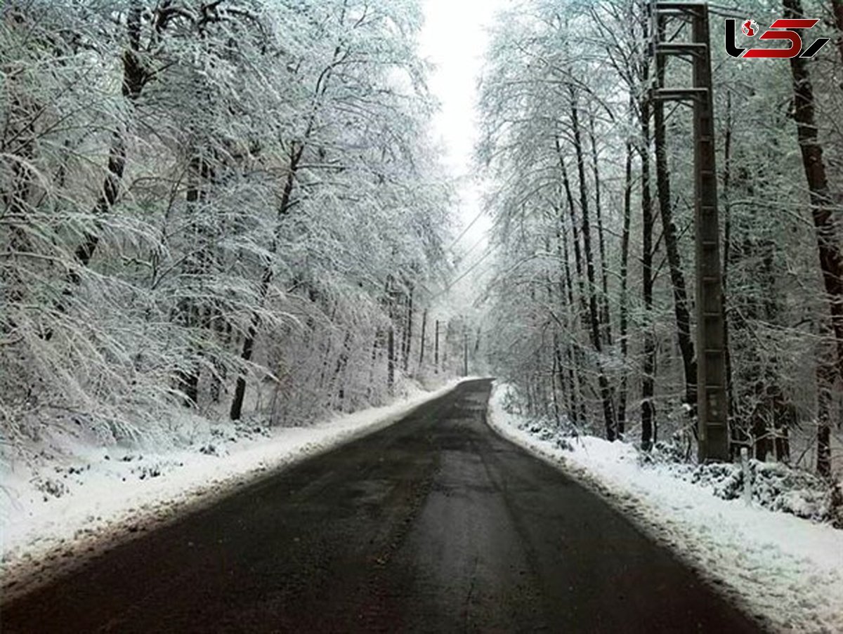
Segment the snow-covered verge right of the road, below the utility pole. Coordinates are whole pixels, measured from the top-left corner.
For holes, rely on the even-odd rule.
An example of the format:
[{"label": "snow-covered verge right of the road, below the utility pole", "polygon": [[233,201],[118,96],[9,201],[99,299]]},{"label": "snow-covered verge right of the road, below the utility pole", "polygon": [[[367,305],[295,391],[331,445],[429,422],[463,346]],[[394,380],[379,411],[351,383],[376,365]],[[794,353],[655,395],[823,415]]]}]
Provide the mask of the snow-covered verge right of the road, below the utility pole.
[{"label": "snow-covered verge right of the road, below the utility pole", "polygon": [[584,436],[566,449],[507,412],[506,391],[492,393],[491,427],[596,489],[749,614],[776,631],[843,632],[843,530],[715,497],[665,465],[642,466],[628,443]]}]

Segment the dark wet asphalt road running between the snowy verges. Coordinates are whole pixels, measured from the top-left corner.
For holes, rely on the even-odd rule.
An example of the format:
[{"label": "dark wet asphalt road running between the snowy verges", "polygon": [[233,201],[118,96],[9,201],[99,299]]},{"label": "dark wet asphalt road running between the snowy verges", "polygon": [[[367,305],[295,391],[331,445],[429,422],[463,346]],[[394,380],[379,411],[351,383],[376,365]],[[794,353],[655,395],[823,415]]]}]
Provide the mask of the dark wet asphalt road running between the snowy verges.
[{"label": "dark wet asphalt road running between the snowy verges", "polygon": [[10,632],[744,632],[599,497],[486,426],[489,381],[118,546]]}]

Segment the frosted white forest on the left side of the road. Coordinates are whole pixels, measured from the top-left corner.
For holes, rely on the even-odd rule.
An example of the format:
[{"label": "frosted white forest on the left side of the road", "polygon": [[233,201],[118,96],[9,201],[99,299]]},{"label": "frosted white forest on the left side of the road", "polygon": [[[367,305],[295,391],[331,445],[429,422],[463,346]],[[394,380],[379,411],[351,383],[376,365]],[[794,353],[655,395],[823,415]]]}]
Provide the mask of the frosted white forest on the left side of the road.
[{"label": "frosted white forest on the left side of the road", "polygon": [[[4,3],[0,425],[271,425],[453,374],[411,0]],[[452,368],[453,366],[453,368]]]}]

